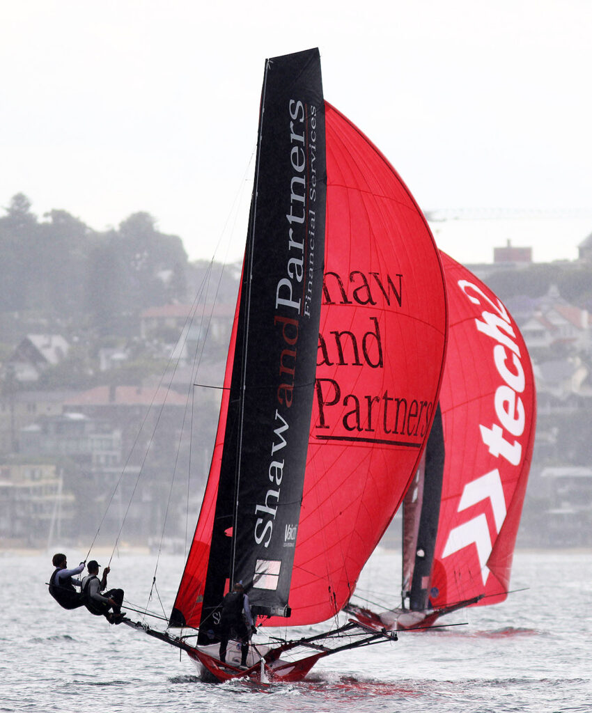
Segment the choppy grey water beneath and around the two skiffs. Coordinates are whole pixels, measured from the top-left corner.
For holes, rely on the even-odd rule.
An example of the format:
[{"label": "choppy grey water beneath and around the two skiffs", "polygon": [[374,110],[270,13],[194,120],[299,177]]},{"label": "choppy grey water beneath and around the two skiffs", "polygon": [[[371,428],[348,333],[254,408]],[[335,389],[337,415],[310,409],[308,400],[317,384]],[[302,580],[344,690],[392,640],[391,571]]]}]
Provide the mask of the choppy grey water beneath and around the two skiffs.
[{"label": "choppy grey water beneath and around the two skiffs", "polygon": [[[77,557],[69,551],[68,563]],[[0,563],[0,712],[592,712],[590,552],[516,553],[512,587],[529,590],[449,619],[468,625],[343,652],[319,662],[305,682],[265,691],[203,683],[178,650],[84,609],[61,610],[44,585],[51,555],[4,555]],[[167,613],[182,566],[170,557],[158,568]],[[146,605],[154,558],[123,555],[111,570],[110,585]],[[359,588],[395,603],[398,574],[398,555],[375,553]],[[154,595],[150,608],[159,607]]]}]

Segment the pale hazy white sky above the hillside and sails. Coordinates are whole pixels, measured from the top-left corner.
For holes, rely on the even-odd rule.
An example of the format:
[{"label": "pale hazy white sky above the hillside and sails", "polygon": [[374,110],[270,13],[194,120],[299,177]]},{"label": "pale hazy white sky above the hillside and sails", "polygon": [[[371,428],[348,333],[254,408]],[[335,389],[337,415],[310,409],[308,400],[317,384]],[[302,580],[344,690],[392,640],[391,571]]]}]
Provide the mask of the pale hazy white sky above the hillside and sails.
[{"label": "pale hazy white sky above the hillside and sails", "polygon": [[[22,192],[96,230],[145,210],[212,257],[247,205],[265,58],[318,46],[325,97],[424,210],[553,215],[434,224],[444,250],[573,258],[592,232],[591,37],[589,0],[5,2],[0,206]],[[245,230],[241,213],[230,257]]]}]

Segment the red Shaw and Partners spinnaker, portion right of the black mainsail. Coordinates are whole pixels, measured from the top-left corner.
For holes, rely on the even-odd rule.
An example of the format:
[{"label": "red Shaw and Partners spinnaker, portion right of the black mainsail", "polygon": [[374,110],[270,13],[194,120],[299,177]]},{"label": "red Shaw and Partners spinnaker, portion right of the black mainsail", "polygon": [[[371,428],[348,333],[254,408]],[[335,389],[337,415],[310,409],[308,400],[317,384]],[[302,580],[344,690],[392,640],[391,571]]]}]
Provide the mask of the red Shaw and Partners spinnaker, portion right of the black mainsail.
[{"label": "red Shaw and Partners spinnaker, portion right of the black mainsail", "polygon": [[289,620],[335,615],[399,507],[446,347],[442,267],[392,165],[325,103],[327,230],[316,397]]}]

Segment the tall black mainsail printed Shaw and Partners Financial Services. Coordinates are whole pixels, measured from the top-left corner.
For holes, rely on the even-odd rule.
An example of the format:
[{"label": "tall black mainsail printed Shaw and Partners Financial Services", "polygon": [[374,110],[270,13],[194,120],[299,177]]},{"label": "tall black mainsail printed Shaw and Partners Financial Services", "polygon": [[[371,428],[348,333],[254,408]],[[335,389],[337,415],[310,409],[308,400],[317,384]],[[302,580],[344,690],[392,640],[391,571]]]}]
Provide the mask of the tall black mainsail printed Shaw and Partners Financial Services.
[{"label": "tall black mainsail printed Shaw and Partners Financial Services", "polygon": [[256,613],[285,615],[317,359],[325,235],[317,50],[265,67],[250,268],[233,572]]}]

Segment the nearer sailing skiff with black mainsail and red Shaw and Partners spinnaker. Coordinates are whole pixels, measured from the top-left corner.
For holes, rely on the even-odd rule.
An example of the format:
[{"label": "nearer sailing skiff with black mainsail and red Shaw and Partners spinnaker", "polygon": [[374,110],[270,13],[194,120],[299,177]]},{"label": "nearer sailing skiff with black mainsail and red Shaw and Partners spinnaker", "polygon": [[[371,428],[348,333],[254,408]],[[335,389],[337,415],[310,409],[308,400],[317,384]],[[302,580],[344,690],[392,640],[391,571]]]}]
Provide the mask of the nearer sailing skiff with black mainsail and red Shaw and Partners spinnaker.
[{"label": "nearer sailing skiff with black mainsail and red Shaw and Partners spinnaker", "polygon": [[[325,103],[318,50],[267,60],[203,503],[167,630],[126,624],[218,680],[294,681],[322,657],[396,639],[337,617],[417,470],[446,329],[427,222],[382,153]],[[218,657],[220,604],[238,581],[259,632],[245,670]],[[295,633],[260,643],[266,627]]]}]

